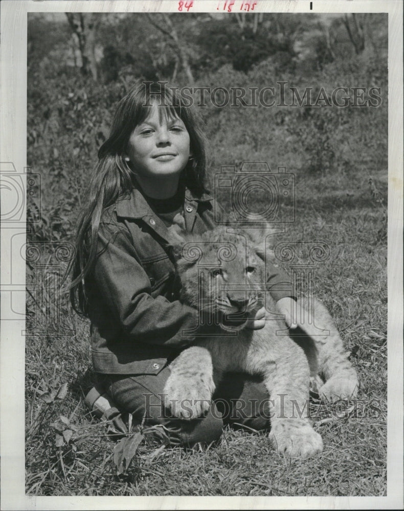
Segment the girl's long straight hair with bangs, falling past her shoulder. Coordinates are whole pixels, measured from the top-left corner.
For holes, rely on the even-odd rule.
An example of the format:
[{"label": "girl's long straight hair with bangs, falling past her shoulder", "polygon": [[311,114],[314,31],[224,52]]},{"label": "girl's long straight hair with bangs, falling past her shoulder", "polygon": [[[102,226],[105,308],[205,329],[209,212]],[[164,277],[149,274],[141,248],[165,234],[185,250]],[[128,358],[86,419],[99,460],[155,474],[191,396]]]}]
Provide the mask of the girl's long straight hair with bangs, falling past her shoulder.
[{"label": "girl's long straight hair with bangs, falling past her shoulder", "polygon": [[104,208],[114,204],[133,188],[133,171],[124,160],[133,129],[149,115],[153,105],[159,113],[181,119],[190,136],[193,158],[183,170],[181,180],[199,196],[205,190],[206,143],[199,115],[184,104],[175,88],[165,82],[140,82],[118,103],[109,137],[98,151],[98,162],[89,181],[85,207],[78,218],[74,245],[75,258],[66,275],[72,273],[70,301],[79,314],[88,315],[85,277],[97,255],[98,230]]}]

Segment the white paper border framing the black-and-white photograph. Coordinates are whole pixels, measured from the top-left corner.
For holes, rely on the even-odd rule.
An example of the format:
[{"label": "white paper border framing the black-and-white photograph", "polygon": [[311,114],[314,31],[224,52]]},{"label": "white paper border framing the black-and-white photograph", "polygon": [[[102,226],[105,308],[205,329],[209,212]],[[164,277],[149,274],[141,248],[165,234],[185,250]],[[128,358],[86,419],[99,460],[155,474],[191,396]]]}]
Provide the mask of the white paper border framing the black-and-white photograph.
[{"label": "white paper border framing the black-and-white photograph", "polygon": [[[3,0],[1,2],[0,161],[27,167],[27,13],[177,12],[176,0]],[[217,0],[194,0],[192,12],[216,12]],[[402,0],[259,0],[256,12],[387,12],[389,15],[388,184],[388,479],[386,497],[27,497],[24,455],[25,292],[10,281],[11,238],[23,220],[1,229],[2,509],[401,509],[403,502],[403,42]],[[34,169],[35,171],[35,169]],[[7,204],[2,204],[3,208]],[[25,204],[24,204],[25,212]],[[25,243],[20,236],[21,246]],[[25,275],[24,261],[13,272]],[[18,267],[18,264],[20,267]],[[19,293],[17,292],[19,290]],[[11,304],[11,295],[13,303]],[[15,309],[14,309],[15,310]]]}]

